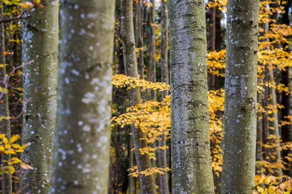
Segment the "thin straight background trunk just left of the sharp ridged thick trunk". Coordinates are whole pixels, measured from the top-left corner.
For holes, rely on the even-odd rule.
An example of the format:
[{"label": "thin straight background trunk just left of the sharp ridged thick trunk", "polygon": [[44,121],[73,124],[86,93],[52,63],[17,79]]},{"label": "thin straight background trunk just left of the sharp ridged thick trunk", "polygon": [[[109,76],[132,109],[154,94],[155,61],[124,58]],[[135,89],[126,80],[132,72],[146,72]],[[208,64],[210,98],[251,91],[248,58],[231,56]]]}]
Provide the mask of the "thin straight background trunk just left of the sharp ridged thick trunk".
[{"label": "thin straight background trunk just left of the sharp ridged thick trunk", "polygon": [[[168,15],[167,4],[161,0],[161,81],[169,84],[169,70],[168,70]],[[167,90],[161,93],[161,98],[168,96]],[[166,146],[165,134],[161,135],[161,140],[158,142],[159,146]],[[160,168],[167,167],[166,149],[158,149],[158,163]],[[160,193],[169,194],[167,171],[164,175],[160,175]]]}]

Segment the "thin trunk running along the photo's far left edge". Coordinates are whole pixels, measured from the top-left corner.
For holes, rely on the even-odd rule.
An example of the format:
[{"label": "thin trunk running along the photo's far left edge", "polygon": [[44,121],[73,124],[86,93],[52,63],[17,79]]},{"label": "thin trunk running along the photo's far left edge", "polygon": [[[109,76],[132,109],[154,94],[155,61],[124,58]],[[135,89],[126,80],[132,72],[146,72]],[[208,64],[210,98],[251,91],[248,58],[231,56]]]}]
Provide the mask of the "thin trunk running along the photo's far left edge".
[{"label": "thin trunk running along the photo's far left edge", "polygon": [[[2,1],[0,2],[0,14],[2,16],[3,14],[3,5]],[[0,26],[0,53],[5,51],[5,32],[4,32],[4,25]],[[5,57],[0,58],[0,64],[6,64]],[[5,80],[5,75],[6,75],[6,66],[4,65],[2,68],[0,68],[0,75],[2,80]],[[1,84],[1,87],[4,88],[5,85]],[[1,109],[0,109],[0,116],[8,116],[9,117],[9,102],[8,102],[8,94],[4,94],[3,96],[3,104],[1,104]],[[0,122],[0,125],[4,125],[4,127],[1,129],[1,133],[4,133],[5,136],[10,139],[11,136],[11,131],[10,131],[10,124],[7,122],[7,120],[3,119]],[[11,161],[11,155],[10,154],[3,154],[1,156],[2,160],[2,166],[9,166],[7,162],[5,161]],[[8,173],[2,173],[2,194],[11,194],[12,193],[12,178],[11,174]]]}]

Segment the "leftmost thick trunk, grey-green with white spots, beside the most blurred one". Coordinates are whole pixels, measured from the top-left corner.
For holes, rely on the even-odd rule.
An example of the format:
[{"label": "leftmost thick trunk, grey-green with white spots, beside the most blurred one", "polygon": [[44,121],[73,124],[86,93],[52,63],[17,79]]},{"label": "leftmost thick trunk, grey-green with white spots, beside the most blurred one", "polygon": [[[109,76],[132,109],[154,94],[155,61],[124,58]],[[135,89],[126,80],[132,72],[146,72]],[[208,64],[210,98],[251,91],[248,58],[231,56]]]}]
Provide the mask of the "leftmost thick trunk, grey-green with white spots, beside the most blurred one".
[{"label": "leftmost thick trunk, grey-green with white spots, beside the most blurred one", "polygon": [[22,62],[35,61],[23,67],[22,140],[29,146],[21,155],[35,168],[23,181],[29,184],[24,191],[32,194],[50,190],[56,118],[59,6],[58,0],[41,2],[44,8],[26,12],[22,20]]}]

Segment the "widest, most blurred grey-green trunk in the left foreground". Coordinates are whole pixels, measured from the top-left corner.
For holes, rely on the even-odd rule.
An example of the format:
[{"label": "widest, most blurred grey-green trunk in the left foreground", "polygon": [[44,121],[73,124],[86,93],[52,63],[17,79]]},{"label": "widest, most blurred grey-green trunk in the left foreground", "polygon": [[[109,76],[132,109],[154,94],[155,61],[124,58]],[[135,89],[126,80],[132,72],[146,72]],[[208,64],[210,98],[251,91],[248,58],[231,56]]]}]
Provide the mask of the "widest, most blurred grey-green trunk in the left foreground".
[{"label": "widest, most blurred grey-green trunk in the left foreground", "polygon": [[114,0],[61,0],[52,194],[107,194]]}]

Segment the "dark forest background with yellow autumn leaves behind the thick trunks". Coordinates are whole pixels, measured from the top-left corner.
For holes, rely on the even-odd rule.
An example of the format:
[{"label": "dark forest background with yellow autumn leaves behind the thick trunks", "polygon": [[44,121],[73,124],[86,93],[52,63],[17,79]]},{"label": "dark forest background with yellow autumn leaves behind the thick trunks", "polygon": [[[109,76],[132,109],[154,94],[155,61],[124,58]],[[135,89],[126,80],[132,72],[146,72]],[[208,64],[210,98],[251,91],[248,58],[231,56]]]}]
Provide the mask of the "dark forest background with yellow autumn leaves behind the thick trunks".
[{"label": "dark forest background with yellow autumn leaves behind the thick trunks", "polygon": [[[256,126],[256,175],[259,176],[255,177],[257,186],[254,188],[254,193],[290,193],[292,186],[289,177],[286,177],[292,176],[291,3],[291,0],[262,0],[259,2]],[[3,142],[1,142],[3,145],[0,146],[0,151],[3,166],[2,191],[9,188],[8,193],[21,193],[23,188],[28,187],[30,183],[23,179],[25,176],[34,176],[33,173],[27,175],[29,174],[28,169],[34,171],[36,168],[32,161],[46,155],[45,153],[38,155],[29,152],[42,152],[42,149],[51,150],[47,146],[37,147],[37,149],[30,148],[34,139],[30,135],[34,135],[36,130],[47,130],[43,125],[40,124],[39,129],[25,130],[23,126],[27,126],[27,121],[24,120],[29,118],[26,113],[26,110],[29,110],[27,109],[29,97],[25,97],[23,92],[23,90],[25,91],[23,80],[28,71],[23,68],[31,66],[30,73],[35,75],[39,70],[33,66],[37,59],[23,60],[24,55],[29,55],[29,53],[22,51],[24,43],[21,32],[25,32],[21,19],[29,18],[30,12],[33,12],[34,9],[44,9],[45,6],[39,0],[23,2],[22,0],[2,0],[0,24],[3,30],[0,40],[2,46],[0,68],[5,69],[6,72],[1,74],[0,81],[2,84],[0,99],[4,107],[4,111],[1,112],[0,127],[8,139],[5,139],[4,135],[0,136]],[[109,193],[141,193],[143,185],[141,185],[139,176],[152,176],[157,191],[168,194],[172,191],[172,185],[166,0],[161,2],[132,1],[135,54],[139,78],[126,76],[125,47],[123,46],[125,36],[121,32],[123,17],[121,12],[125,8],[124,6],[119,0],[115,2]],[[131,10],[128,12],[131,13]],[[226,12],[227,0],[206,2],[209,136],[216,193],[221,193],[222,177]],[[54,21],[56,20],[58,18],[55,18]],[[27,33],[26,36],[30,36],[30,34]],[[56,69],[52,70],[48,67],[48,70],[53,72]],[[141,89],[141,101],[133,105],[128,93],[135,88]],[[142,137],[138,138],[143,142],[142,146],[133,145],[131,128],[141,129],[144,133]],[[48,136],[54,136],[54,129],[49,132]],[[15,144],[16,142],[18,144]],[[27,153],[23,150],[25,147],[28,150]],[[137,161],[134,157],[134,152],[137,151],[142,157],[148,156],[151,160],[151,166],[140,172],[138,172]],[[24,155],[20,156],[18,152],[23,152]],[[16,157],[11,158],[11,154]],[[20,166],[27,170],[27,174],[21,173]],[[282,183],[285,184],[278,184],[282,179]],[[242,181],[247,180],[242,178]],[[49,190],[48,182],[50,181],[41,180],[40,184]],[[263,185],[263,182],[266,185]]]}]

